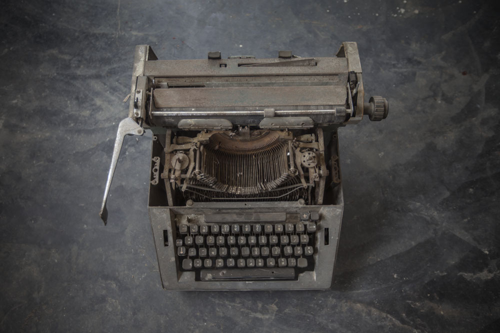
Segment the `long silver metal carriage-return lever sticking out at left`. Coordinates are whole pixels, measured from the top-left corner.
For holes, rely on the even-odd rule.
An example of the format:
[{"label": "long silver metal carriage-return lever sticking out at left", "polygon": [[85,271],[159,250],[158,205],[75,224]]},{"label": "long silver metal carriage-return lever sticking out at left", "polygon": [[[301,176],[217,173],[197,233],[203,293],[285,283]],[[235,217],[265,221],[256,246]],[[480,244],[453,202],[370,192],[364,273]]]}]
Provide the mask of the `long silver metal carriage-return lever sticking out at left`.
[{"label": "long silver metal carriage-return lever sticking out at left", "polygon": [[100,207],[99,216],[104,222],[107,223],[107,194],[111,188],[111,181],[113,180],[114,170],[116,169],[116,164],[118,163],[118,157],[120,156],[121,146],[123,145],[123,138],[125,135],[142,135],[144,130],[142,127],[137,125],[137,123],[132,118],[125,118],[120,121],[118,125],[118,132],[116,133],[116,140],[114,141],[113,157],[111,159],[111,165],[109,166],[109,172],[107,174],[106,188],[104,190],[104,198],[102,199],[102,205]]}]

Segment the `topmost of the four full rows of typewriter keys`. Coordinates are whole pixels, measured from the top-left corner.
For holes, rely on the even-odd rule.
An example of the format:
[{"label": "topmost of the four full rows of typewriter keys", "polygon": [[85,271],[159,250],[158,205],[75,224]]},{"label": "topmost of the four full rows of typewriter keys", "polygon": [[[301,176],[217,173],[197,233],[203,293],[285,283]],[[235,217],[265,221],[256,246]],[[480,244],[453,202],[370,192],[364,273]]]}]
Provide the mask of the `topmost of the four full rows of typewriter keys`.
[{"label": "topmost of the four full rows of typewriter keys", "polygon": [[190,234],[190,235],[207,235],[208,232],[210,232],[212,235],[217,235],[217,234],[223,234],[223,235],[239,235],[239,234],[260,234],[264,232],[265,234],[282,234],[287,233],[291,234],[293,232],[296,232],[298,234],[301,234],[307,229],[308,233],[313,233],[316,231],[316,224],[313,222],[307,223],[306,226],[304,226],[303,223],[297,223],[297,224],[291,224],[291,223],[286,223],[283,227],[282,224],[264,224],[263,226],[260,224],[212,224],[210,226],[208,225],[200,225],[198,226],[197,224],[181,224],[178,227],[179,233],[181,235],[184,234]]}]

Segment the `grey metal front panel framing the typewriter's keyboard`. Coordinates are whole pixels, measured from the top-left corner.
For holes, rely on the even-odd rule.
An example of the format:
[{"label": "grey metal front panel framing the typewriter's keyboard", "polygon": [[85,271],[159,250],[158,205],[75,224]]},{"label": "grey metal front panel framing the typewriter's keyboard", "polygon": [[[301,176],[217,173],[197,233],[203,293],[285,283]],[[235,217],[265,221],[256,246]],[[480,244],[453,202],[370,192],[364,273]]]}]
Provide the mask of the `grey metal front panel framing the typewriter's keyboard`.
[{"label": "grey metal front panel framing the typewriter's keyboard", "polygon": [[[340,202],[343,202],[340,201]],[[343,205],[335,206],[300,206],[283,207],[262,205],[251,208],[187,208],[187,207],[149,207],[149,218],[153,230],[154,243],[158,258],[159,271],[163,288],[166,290],[303,290],[328,289],[331,285],[333,266],[336,257]],[[243,205],[238,204],[237,206]],[[260,205],[259,205],[260,206]],[[227,207],[227,206],[226,206]],[[193,210],[190,212],[190,210]],[[204,214],[245,210],[245,213],[266,213],[285,211],[318,211],[320,222],[317,231],[317,248],[315,249],[315,270],[299,275],[296,281],[195,281],[194,272],[181,272],[175,256],[175,226],[173,218],[176,214]],[[324,230],[328,228],[328,245],[325,245]],[[164,231],[168,237],[168,246],[164,245]]]}]

